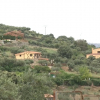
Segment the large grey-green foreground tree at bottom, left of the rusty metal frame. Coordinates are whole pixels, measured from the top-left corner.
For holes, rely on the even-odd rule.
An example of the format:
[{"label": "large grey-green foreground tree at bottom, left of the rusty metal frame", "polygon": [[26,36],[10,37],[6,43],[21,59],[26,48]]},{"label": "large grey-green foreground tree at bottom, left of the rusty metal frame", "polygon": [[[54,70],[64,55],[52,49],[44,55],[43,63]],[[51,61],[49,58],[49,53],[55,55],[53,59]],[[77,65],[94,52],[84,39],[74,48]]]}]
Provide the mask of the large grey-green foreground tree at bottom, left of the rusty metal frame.
[{"label": "large grey-green foreground tree at bottom, left of the rusty metal frame", "polygon": [[21,100],[44,100],[44,94],[50,93],[54,83],[46,74],[25,72],[20,82]]}]

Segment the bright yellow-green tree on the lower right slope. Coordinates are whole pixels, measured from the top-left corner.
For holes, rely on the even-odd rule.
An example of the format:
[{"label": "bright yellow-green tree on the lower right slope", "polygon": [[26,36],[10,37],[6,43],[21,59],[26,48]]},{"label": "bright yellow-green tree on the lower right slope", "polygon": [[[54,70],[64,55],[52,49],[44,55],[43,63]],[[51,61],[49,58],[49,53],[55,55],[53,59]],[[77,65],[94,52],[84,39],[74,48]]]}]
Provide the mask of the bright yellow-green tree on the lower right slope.
[{"label": "bright yellow-green tree on the lower right slope", "polygon": [[82,66],[79,68],[79,74],[80,74],[81,79],[83,80],[91,77],[91,72],[86,66]]}]

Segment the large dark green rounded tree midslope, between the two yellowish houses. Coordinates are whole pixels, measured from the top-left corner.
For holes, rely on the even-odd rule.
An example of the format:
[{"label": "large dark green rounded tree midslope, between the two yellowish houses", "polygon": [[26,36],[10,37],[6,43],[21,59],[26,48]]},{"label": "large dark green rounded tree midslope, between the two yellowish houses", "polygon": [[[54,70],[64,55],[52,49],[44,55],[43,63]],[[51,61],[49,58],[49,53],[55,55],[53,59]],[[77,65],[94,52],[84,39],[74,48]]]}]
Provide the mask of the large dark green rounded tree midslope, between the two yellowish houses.
[{"label": "large dark green rounded tree midslope, between the two yellowish houses", "polygon": [[69,46],[62,45],[58,48],[58,54],[61,57],[71,58],[72,51],[71,51],[71,48]]}]

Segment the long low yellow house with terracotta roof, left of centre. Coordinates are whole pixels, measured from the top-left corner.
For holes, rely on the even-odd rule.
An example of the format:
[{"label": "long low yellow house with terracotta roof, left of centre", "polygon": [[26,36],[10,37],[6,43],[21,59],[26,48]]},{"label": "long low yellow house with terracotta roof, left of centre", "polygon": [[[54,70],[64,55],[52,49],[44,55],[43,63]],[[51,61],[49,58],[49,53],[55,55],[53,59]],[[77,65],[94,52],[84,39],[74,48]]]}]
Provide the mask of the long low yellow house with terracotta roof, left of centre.
[{"label": "long low yellow house with terracotta roof, left of centre", "polygon": [[16,59],[39,59],[41,58],[41,52],[25,51],[15,54]]}]

